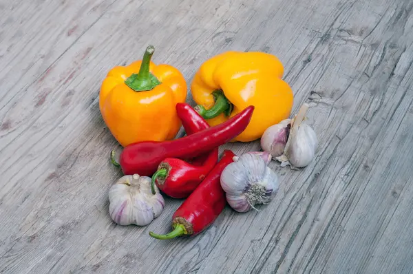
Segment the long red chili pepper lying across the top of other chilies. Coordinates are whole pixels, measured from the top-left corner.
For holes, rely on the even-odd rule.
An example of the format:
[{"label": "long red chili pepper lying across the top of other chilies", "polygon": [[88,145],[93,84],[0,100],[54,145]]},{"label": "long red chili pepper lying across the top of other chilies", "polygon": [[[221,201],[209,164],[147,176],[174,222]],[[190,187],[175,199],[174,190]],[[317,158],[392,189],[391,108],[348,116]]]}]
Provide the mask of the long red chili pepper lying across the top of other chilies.
[{"label": "long red chili pepper lying across the top of other chilies", "polygon": [[140,176],[152,176],[166,158],[193,158],[233,140],[246,129],[253,111],[254,106],[251,105],[224,123],[175,140],[128,145],[120,154],[119,164],[114,160],[112,151],[112,162],[122,167],[125,175],[137,173]]}]

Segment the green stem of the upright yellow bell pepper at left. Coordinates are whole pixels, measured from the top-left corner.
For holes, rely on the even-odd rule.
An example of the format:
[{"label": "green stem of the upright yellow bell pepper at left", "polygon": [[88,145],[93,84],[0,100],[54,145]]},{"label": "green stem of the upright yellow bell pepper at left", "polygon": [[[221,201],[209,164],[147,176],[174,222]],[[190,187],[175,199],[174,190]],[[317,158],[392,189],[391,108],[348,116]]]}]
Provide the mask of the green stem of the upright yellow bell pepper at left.
[{"label": "green stem of the upright yellow bell pepper at left", "polygon": [[151,58],[155,52],[153,45],[149,45],[143,54],[138,74],[132,74],[125,80],[125,84],[135,92],[143,92],[160,85],[160,81],[149,72]]}]

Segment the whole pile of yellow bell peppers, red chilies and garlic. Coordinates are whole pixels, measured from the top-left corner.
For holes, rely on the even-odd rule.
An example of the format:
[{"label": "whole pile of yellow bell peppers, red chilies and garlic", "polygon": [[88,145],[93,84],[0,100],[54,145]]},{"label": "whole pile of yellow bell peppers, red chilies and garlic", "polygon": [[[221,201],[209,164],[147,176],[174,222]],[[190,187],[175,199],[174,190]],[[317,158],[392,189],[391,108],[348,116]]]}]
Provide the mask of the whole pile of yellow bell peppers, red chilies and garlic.
[{"label": "whole pile of yellow bell peppers, red chilies and garlic", "polygon": [[[145,226],[165,207],[162,193],[185,199],[173,213],[172,231],[150,232],[168,240],[207,229],[226,204],[237,212],[268,204],[279,189],[269,166],[306,167],[318,140],[306,124],[308,105],[288,118],[293,92],[282,80],[284,67],[264,52],[224,52],[205,61],[195,74],[194,107],[185,103],[187,83],[171,65],[142,61],[109,71],[100,88],[100,112],[123,147],[112,163],[124,176],[109,189],[109,215],[120,225]],[[180,127],[187,136],[175,138]],[[236,156],[219,148],[261,138],[262,151]]]}]

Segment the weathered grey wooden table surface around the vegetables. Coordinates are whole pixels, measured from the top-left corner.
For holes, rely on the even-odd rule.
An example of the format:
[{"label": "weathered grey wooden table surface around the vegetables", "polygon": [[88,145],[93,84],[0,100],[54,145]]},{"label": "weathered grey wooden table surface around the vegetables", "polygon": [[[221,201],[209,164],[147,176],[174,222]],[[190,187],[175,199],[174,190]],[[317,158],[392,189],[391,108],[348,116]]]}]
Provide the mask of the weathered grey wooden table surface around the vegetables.
[{"label": "weathered grey wooden table surface around the vegetables", "polygon": [[[413,1],[31,0],[0,3],[1,273],[413,273]],[[182,200],[118,226],[122,176],[98,108],[111,67],[170,63],[191,83],[226,50],[279,57],[319,137],[260,211],[226,207],[160,241]],[[189,96],[188,101],[191,101]],[[259,141],[223,148],[237,154]]]}]

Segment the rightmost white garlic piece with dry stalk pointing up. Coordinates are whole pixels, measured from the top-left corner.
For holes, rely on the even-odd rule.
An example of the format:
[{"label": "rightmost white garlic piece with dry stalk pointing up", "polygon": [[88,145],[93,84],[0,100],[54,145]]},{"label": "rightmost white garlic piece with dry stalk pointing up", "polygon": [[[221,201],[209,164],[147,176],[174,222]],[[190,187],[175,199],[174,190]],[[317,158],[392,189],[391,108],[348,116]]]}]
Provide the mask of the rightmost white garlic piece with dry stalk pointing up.
[{"label": "rightmost white garlic piece with dry stalk pointing up", "polygon": [[318,140],[313,128],[303,121],[307,111],[308,105],[304,103],[292,121],[284,153],[276,158],[282,166],[306,167],[315,156]]}]

